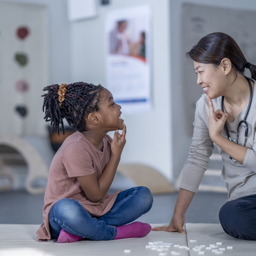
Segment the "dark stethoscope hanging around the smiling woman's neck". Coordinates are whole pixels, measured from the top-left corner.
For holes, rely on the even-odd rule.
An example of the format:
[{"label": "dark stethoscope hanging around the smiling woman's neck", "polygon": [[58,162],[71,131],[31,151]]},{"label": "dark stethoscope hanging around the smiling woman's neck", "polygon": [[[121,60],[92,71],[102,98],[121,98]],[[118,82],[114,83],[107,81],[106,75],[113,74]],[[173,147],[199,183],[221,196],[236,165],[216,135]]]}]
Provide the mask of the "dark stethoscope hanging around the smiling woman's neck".
[{"label": "dark stethoscope hanging around the smiling woman's neck", "polygon": [[[228,131],[228,126],[227,126],[227,122],[225,122],[225,129],[226,129],[226,132],[227,132],[227,135],[228,135],[228,139],[232,142],[234,142],[235,144],[238,144],[238,136],[239,136],[239,132],[240,132],[240,128],[241,128],[241,125],[244,123],[245,124],[245,134],[244,134],[244,137],[245,137],[245,140],[244,140],[244,146],[245,146],[245,143],[247,141],[247,136],[248,136],[248,124],[247,124],[247,121],[246,121],[246,117],[247,117],[247,114],[249,112],[249,109],[250,109],[250,105],[252,104],[252,97],[253,97],[253,88],[252,88],[252,83],[250,82],[249,78],[244,76],[248,83],[249,83],[249,86],[250,86],[250,100],[249,100],[249,104],[248,104],[248,107],[247,107],[247,111],[244,115],[244,120],[240,121],[239,124],[238,124],[238,128],[237,128],[237,140],[232,140],[231,137],[230,137],[230,134],[229,134],[229,131]],[[224,100],[224,96],[221,97],[221,110],[224,112],[224,107],[223,107],[223,100]],[[235,159],[233,159],[231,156],[229,156],[230,159],[232,159],[233,161],[237,161]]]}]

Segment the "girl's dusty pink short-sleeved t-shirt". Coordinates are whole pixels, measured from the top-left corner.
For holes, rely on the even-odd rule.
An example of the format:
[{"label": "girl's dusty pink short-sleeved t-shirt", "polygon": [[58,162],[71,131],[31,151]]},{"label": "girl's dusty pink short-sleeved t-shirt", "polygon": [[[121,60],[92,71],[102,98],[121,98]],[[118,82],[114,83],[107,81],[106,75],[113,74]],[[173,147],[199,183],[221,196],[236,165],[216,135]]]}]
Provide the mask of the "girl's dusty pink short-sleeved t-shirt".
[{"label": "girl's dusty pink short-sleeved t-shirt", "polygon": [[117,194],[106,195],[98,203],[90,201],[76,177],[96,173],[102,174],[111,155],[111,137],[103,139],[103,151],[95,146],[81,132],[75,132],[67,137],[52,159],[48,184],[45,191],[43,206],[43,224],[37,230],[37,239],[51,239],[49,229],[49,213],[53,204],[63,198],[79,201],[83,208],[92,216],[102,216],[114,205]]}]

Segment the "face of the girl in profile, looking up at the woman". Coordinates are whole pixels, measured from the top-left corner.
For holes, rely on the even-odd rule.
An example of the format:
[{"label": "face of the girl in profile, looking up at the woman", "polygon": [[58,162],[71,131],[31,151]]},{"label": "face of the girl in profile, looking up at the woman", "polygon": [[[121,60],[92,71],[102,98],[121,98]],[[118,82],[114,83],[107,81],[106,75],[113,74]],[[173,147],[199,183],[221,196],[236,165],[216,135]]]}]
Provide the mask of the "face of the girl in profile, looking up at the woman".
[{"label": "face of the girl in profile, looking up at the woman", "polygon": [[122,130],[124,127],[124,120],[121,119],[121,106],[115,103],[112,93],[106,88],[101,93],[99,106],[101,124],[107,131]]}]

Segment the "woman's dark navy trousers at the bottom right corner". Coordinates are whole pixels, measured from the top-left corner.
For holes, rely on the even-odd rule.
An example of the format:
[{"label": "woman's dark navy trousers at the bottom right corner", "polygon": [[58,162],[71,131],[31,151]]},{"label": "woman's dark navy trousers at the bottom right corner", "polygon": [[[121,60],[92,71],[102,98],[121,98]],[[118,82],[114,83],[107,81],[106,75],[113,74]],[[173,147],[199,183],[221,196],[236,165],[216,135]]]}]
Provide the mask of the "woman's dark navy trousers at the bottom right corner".
[{"label": "woman's dark navy trousers at the bottom right corner", "polygon": [[232,237],[256,240],[256,195],[228,201],[221,207],[219,219]]}]

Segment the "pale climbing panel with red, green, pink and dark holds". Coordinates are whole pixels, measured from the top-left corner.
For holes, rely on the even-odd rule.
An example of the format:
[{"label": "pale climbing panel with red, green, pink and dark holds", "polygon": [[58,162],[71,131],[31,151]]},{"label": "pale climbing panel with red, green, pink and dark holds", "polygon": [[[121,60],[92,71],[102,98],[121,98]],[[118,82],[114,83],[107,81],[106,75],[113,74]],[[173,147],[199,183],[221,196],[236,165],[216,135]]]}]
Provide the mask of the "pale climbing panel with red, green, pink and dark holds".
[{"label": "pale climbing panel with red, green, pink and dark holds", "polygon": [[47,20],[44,6],[0,2],[0,133],[46,133]]}]

